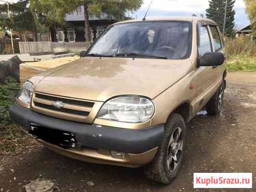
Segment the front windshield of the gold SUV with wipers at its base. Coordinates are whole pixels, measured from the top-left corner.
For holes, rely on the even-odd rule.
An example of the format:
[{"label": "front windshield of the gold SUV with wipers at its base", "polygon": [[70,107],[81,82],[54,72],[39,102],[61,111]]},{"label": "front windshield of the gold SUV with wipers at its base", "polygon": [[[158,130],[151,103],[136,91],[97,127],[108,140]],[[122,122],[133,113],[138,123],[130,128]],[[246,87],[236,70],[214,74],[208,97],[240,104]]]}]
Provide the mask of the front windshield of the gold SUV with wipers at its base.
[{"label": "front windshield of the gold SUV with wipers at its base", "polygon": [[131,22],[107,28],[86,55],[186,59],[191,42],[191,22]]}]

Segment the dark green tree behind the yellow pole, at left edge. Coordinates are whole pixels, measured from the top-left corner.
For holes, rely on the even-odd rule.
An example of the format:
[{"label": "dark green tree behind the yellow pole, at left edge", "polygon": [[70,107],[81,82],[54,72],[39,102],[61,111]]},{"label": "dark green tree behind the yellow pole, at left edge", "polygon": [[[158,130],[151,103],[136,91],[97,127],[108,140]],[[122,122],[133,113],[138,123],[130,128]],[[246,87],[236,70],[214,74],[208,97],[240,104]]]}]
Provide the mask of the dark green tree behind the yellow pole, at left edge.
[{"label": "dark green tree behind the yellow pole, at left edge", "polygon": [[33,32],[33,40],[37,41],[36,21],[28,5],[28,0],[9,4],[10,18],[8,17],[7,4],[0,5],[0,27],[7,30],[12,29],[17,32],[31,30]]}]

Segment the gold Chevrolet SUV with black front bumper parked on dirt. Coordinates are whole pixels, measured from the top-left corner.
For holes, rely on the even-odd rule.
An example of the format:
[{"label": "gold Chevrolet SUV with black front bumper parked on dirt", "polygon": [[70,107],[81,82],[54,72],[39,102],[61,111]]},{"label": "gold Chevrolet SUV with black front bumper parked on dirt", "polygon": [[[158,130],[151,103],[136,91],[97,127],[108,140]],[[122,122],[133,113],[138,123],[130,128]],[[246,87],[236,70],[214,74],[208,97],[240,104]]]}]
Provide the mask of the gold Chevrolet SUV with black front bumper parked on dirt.
[{"label": "gold Chevrolet SUV with black front bumper parked on dirt", "polygon": [[59,154],[144,166],[170,183],[186,124],[223,104],[226,53],[214,21],[197,17],[115,23],[81,58],[34,76],[10,108],[22,129]]}]

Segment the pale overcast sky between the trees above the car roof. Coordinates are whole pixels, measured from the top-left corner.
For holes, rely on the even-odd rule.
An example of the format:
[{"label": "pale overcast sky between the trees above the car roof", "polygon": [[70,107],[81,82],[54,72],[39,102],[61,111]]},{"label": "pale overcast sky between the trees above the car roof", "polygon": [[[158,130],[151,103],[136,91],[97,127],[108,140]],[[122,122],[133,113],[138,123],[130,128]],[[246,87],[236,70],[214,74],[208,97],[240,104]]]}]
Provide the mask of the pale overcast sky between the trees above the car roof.
[{"label": "pale overcast sky between the trees above the car roof", "polygon": [[[132,16],[143,18],[151,0],[144,0],[144,4]],[[195,13],[205,15],[205,10],[209,7],[208,0],[153,0],[148,16],[192,16]],[[243,0],[235,1],[235,25],[239,28],[250,24]]]}]

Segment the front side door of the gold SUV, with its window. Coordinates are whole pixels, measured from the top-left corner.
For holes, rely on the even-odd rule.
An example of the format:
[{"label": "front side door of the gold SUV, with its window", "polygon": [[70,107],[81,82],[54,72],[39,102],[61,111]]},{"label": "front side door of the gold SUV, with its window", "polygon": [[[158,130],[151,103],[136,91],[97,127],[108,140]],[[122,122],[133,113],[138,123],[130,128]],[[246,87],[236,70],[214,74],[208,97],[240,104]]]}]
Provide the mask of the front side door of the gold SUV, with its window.
[{"label": "front side door of the gold SUV, with its window", "polygon": [[[198,58],[203,57],[205,53],[213,52],[209,26],[201,25],[201,23],[197,24],[197,52]],[[213,67],[198,67],[195,71],[197,111],[202,109],[210,99],[208,92],[213,87],[216,78],[213,71]]]}]

